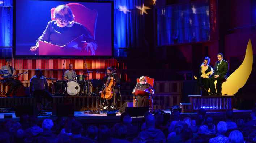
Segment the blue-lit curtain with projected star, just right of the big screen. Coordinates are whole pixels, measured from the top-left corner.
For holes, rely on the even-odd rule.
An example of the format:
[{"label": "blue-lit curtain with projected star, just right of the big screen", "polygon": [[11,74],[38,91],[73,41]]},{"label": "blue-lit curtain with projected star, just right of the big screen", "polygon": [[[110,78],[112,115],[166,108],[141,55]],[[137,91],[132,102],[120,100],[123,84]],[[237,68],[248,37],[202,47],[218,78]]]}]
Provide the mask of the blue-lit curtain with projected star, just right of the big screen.
[{"label": "blue-lit curtain with projected star, just right of the big screen", "polygon": [[[114,0],[114,50],[115,57],[126,57],[125,49],[142,46],[144,16],[136,6],[144,0]],[[125,12],[126,11],[126,12]]]}]

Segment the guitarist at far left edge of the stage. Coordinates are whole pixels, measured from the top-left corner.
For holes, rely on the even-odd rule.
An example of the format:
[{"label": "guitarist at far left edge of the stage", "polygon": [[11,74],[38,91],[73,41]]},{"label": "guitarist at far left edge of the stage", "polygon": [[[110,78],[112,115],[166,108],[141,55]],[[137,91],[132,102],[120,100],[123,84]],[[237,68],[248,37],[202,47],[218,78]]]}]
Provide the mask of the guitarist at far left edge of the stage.
[{"label": "guitarist at far left edge of the stage", "polygon": [[14,77],[20,76],[20,74],[13,75],[15,69],[10,66],[11,61],[12,59],[5,59],[6,65],[1,67],[1,70],[6,69],[9,72],[9,74],[4,74],[2,75],[2,77],[0,77],[0,81],[2,84],[10,86],[10,89],[5,94],[6,96],[10,96],[10,93],[12,92],[13,95],[15,95],[17,93],[17,90],[22,86],[22,83],[19,80],[14,79]]}]

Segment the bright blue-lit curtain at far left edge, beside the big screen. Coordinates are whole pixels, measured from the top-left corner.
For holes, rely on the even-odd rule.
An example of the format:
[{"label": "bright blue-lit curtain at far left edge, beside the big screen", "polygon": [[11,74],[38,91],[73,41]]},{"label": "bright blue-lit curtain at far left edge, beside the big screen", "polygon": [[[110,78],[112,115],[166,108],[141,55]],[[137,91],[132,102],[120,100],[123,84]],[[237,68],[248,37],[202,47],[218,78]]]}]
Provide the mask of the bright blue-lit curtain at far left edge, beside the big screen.
[{"label": "bright blue-lit curtain at far left edge, beside the big screen", "polygon": [[0,0],[0,47],[12,46],[13,1]]}]

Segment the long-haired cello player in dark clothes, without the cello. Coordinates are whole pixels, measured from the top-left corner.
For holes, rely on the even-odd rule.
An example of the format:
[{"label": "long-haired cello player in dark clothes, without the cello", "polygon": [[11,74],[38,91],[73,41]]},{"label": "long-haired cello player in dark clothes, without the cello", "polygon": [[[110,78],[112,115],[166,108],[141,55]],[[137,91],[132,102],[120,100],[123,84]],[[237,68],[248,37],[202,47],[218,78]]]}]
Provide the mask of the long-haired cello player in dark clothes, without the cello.
[{"label": "long-haired cello player in dark clothes, without the cello", "polygon": [[[120,98],[120,92],[119,92],[120,80],[119,80],[117,74],[112,74],[112,72],[113,72],[112,68],[108,67],[108,68],[106,69],[106,73],[107,73],[107,74],[106,74],[106,76],[104,76],[104,78],[103,78],[103,83],[104,83],[104,84],[106,84],[106,82],[108,81],[108,79],[110,79],[110,80],[112,79],[112,80],[114,80],[114,82],[115,82],[113,97],[112,97],[110,100],[108,100],[108,103],[107,103],[107,102],[104,102],[105,105],[103,105],[103,109],[107,109],[107,108],[114,109],[114,105],[116,105],[116,100],[117,100],[118,98]],[[100,93],[101,93],[101,92],[100,92]],[[114,99],[115,99],[115,102],[113,103]],[[104,99],[101,98],[101,100],[102,100],[101,103],[103,103]]]}]

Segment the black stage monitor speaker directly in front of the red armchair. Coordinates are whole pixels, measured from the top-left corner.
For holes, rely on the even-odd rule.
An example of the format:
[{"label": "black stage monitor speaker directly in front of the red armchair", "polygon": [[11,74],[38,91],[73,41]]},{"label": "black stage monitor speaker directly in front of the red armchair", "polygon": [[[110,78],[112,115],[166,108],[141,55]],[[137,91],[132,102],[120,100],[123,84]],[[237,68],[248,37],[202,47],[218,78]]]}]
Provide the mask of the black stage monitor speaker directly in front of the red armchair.
[{"label": "black stage monitor speaker directly in front of the red armchair", "polygon": [[126,107],[127,112],[131,117],[143,117],[145,112],[149,111],[149,107]]}]

